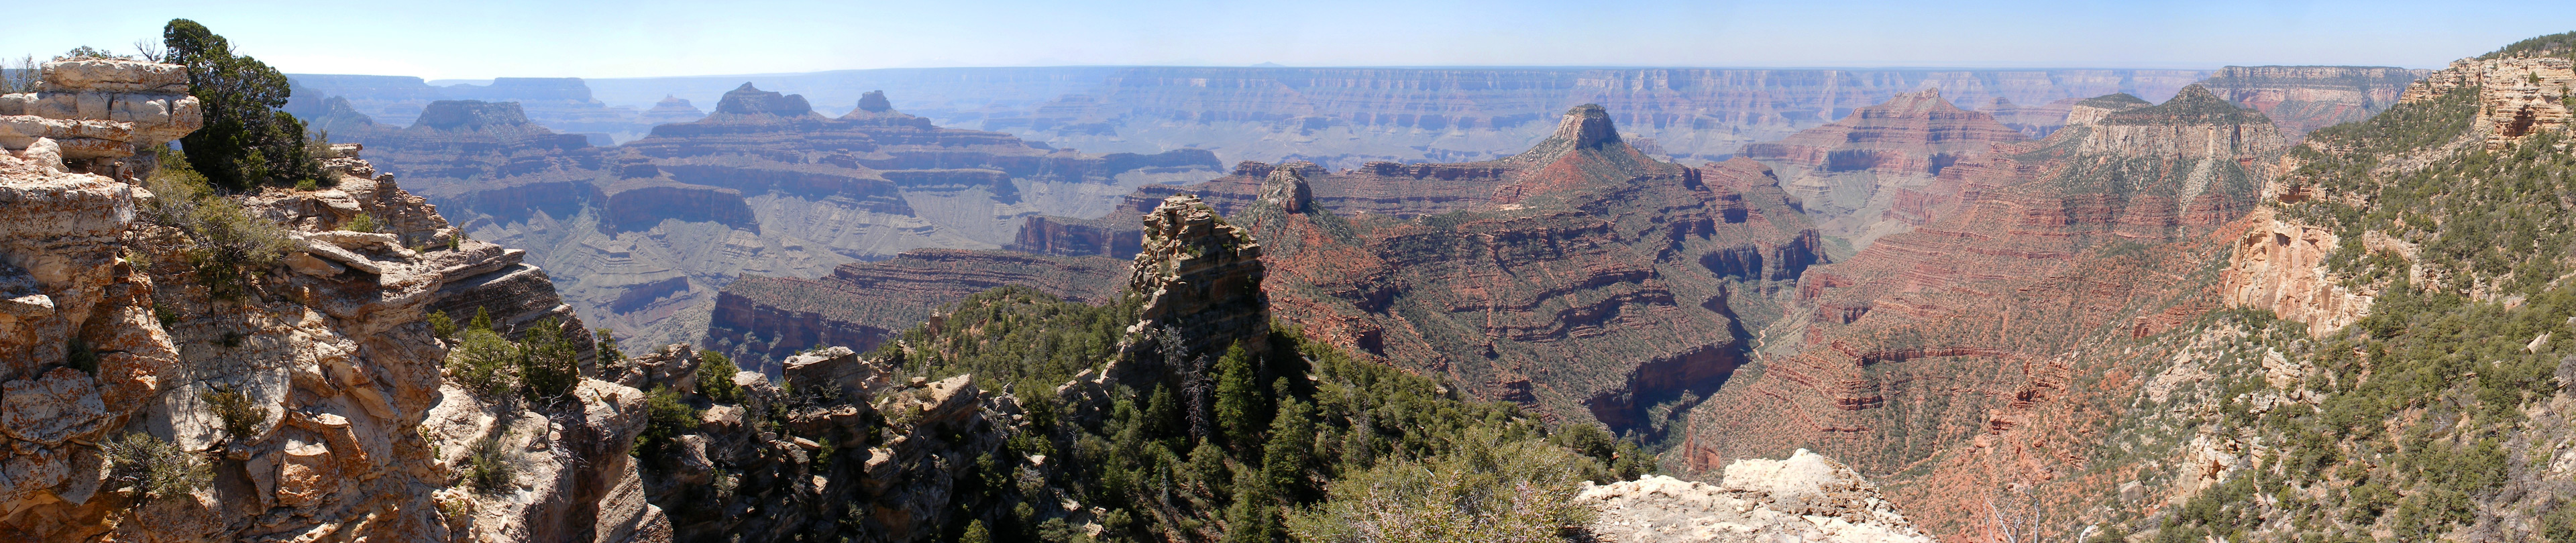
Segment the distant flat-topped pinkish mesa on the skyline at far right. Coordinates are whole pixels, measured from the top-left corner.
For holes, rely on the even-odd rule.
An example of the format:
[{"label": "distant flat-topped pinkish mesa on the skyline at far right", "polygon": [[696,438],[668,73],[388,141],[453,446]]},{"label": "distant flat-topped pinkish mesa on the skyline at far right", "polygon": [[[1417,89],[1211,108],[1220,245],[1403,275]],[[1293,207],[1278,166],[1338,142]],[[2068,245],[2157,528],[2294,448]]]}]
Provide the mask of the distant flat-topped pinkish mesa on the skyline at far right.
[{"label": "distant flat-topped pinkish mesa on the skyline at far right", "polygon": [[2200,85],[2228,103],[2262,111],[2290,139],[2362,121],[2398,103],[2429,69],[2403,67],[2221,67]]}]

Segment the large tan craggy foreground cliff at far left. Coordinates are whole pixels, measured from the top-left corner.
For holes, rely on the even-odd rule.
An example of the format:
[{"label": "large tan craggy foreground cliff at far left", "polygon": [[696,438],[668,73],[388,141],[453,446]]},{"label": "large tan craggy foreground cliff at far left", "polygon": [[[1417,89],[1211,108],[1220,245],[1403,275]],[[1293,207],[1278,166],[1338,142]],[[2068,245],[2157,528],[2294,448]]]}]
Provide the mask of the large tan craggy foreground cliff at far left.
[{"label": "large tan craggy foreground cliff at far left", "polygon": [[[193,129],[175,64],[52,62],[46,93],[157,103],[28,118],[113,126],[152,144]],[[152,80],[160,77],[160,80]],[[134,98],[147,93],[152,100]],[[178,113],[173,113],[178,111]],[[70,113],[70,118],[54,118]],[[489,404],[448,383],[448,340],[430,311],[489,314],[526,335],[569,306],[523,252],[461,239],[392,175],[337,149],[325,190],[265,188],[224,198],[247,229],[273,229],[283,260],[219,291],[185,247],[193,224],[162,216],[191,198],[139,188],[108,154],[67,167],[49,136],[0,157],[0,535],[10,540],[667,540],[639,494],[626,445],[641,391],[580,378],[551,404]],[[137,154],[137,149],[121,149]],[[88,170],[88,172],[80,172]],[[216,203],[201,203],[216,206]],[[379,232],[343,232],[358,216]],[[260,226],[268,224],[268,226]],[[531,281],[533,278],[533,281]],[[111,443],[170,443],[155,468],[201,463],[211,479],[144,481]],[[515,476],[464,489],[471,443]]]}]

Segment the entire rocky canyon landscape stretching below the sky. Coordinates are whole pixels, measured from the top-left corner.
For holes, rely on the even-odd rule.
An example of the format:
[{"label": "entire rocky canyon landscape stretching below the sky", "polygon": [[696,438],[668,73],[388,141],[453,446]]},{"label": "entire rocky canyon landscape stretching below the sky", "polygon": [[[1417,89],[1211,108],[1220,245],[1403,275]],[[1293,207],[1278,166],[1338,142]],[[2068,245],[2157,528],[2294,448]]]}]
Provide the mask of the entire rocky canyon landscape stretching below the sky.
[{"label": "entire rocky canyon landscape stretching below the sky", "polygon": [[2576,33],[425,80],[214,31],[0,69],[0,540],[2576,540]]}]

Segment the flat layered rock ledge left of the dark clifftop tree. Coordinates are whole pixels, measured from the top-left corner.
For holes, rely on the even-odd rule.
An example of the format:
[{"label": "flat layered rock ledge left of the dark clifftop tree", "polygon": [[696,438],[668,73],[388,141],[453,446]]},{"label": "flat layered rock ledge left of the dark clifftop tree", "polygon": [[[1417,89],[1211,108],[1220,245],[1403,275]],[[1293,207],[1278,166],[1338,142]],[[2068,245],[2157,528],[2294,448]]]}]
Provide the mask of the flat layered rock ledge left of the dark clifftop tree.
[{"label": "flat layered rock ledge left of the dark clifftop tree", "polygon": [[[139,59],[44,62],[36,93],[0,95],[0,147],[44,147],[59,170],[111,172],[111,160],[204,126],[188,67]],[[39,144],[39,139],[49,144]]]}]

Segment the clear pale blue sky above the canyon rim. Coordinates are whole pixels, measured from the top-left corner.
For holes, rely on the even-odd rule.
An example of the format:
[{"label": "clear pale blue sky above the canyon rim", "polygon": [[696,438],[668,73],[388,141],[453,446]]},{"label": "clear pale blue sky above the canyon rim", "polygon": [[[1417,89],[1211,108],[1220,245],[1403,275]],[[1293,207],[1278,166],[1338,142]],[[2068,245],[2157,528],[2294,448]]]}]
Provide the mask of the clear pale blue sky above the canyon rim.
[{"label": "clear pale blue sky above the canyon rim", "polygon": [[[2576,31],[2576,3],[62,3],[0,54],[131,49],[196,18],[286,72],[752,75],[1048,64],[2439,67]],[[41,21],[41,23],[39,23]]]}]

